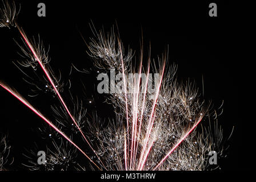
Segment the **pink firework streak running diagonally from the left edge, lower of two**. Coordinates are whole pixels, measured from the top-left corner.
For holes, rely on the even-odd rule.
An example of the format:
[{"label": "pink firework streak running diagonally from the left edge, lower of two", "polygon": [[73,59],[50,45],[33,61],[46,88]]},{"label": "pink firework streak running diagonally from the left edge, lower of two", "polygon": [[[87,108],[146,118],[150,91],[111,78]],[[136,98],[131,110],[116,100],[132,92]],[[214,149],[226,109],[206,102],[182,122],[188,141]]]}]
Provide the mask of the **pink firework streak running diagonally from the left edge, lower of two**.
[{"label": "pink firework streak running diagonally from the left edge, lower of two", "polygon": [[33,106],[31,106],[29,104],[29,102],[27,102],[24,98],[22,98],[21,96],[19,96],[19,94],[15,93],[12,89],[10,89],[8,86],[6,86],[5,84],[2,84],[0,82],[0,86],[2,86],[3,89],[7,90],[9,93],[11,93],[14,97],[16,97],[19,101],[22,102],[22,104],[26,105],[27,107],[29,107],[29,109],[31,109],[35,114],[37,114],[39,117],[41,117],[46,123],[48,123],[51,127],[53,127],[54,130],[56,130],[59,134],[61,134],[66,140],[68,140],[71,144],[73,144],[73,146],[75,146],[79,151],[82,152],[83,155],[86,156],[87,159],[90,160],[91,163],[93,163],[99,170],[101,170],[101,168],[99,168],[97,166],[97,164],[95,164],[93,162],[93,160],[91,160],[89,158],[89,156],[87,156],[85,154],[85,152],[82,151],[81,148],[79,148],[77,146],[77,144],[75,144],[69,137],[67,137],[61,130],[59,130],[55,125],[53,125],[53,123],[51,123],[48,119],[46,119],[41,113],[39,113],[38,110],[36,110]]}]

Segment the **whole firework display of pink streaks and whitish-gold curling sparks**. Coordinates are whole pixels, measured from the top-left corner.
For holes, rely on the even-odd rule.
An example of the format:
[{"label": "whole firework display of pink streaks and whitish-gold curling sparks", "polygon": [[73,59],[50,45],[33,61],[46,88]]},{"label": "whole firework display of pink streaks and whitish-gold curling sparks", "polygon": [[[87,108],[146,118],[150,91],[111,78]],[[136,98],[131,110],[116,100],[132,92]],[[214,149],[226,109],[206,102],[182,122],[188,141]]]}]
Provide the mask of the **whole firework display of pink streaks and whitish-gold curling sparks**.
[{"label": "whole firework display of pink streaks and whitish-gold curling sparks", "polygon": [[[219,155],[222,154],[222,130],[218,129],[217,124],[214,124],[214,130],[201,124],[204,117],[208,117],[210,122],[210,105],[201,100],[194,84],[190,82],[178,84],[174,76],[177,67],[175,65],[166,67],[168,52],[157,60],[151,59],[149,53],[147,66],[144,67],[142,46],[137,69],[132,65],[134,52],[131,49],[125,51],[119,35],[115,35],[114,30],[105,34],[104,31],[97,32],[93,24],[90,24],[94,38],[90,38],[90,42],[86,44],[95,68],[102,72],[115,70],[122,78],[120,89],[116,89],[115,81],[110,81],[110,88],[114,87],[115,92],[108,94],[106,102],[114,106],[116,118],[110,120],[105,127],[97,114],[87,116],[86,111],[82,110],[82,101],[81,109],[78,99],[76,103],[74,102],[74,109],[69,109],[61,96],[59,79],[49,66],[48,51],[45,51],[40,41],[37,43],[34,39],[34,42],[30,42],[25,32],[18,26],[16,21],[18,13],[14,3],[7,1],[4,2],[3,9],[0,9],[0,27],[17,27],[25,43],[25,47],[20,45],[19,47],[27,60],[19,64],[23,67],[32,67],[34,71],[37,71],[39,64],[44,74],[43,82],[46,82],[46,87],[52,90],[63,106],[63,109],[52,107],[57,115],[57,122],[69,128],[64,120],[70,118],[93,151],[96,161],[67,137],[59,126],[45,118],[17,92],[1,82],[0,86],[29,107],[69,144],[81,151],[98,169],[204,170],[209,167],[207,159],[210,151],[216,150]],[[154,75],[153,78],[150,72],[157,73],[159,77]],[[39,88],[37,84],[34,85]],[[74,101],[72,94],[70,97]],[[77,114],[72,114],[76,111]],[[216,113],[214,115],[217,117]],[[88,130],[86,134],[82,131],[82,126]],[[201,130],[195,131],[198,126],[201,126]],[[56,142],[53,142],[53,145],[59,152],[47,150],[51,153],[47,162],[49,170],[53,169],[54,164],[64,163],[63,156],[66,158],[75,154],[61,149]],[[35,155],[35,152],[32,153]],[[71,161],[73,158],[69,159]],[[31,169],[39,169],[38,164],[33,160],[30,160],[30,163]]]}]

